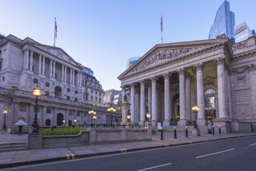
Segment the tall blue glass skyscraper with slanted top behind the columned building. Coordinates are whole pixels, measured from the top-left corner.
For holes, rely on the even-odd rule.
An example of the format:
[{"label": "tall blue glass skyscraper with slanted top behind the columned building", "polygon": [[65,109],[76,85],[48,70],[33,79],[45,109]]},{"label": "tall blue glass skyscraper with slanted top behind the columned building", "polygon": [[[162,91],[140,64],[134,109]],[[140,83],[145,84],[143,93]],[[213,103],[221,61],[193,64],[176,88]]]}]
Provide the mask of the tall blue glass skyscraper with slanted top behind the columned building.
[{"label": "tall blue glass skyscraper with slanted top behind the columned building", "polygon": [[221,34],[226,34],[226,38],[234,38],[234,25],[234,12],[230,11],[230,2],[224,1],[210,27],[209,38],[216,38]]}]

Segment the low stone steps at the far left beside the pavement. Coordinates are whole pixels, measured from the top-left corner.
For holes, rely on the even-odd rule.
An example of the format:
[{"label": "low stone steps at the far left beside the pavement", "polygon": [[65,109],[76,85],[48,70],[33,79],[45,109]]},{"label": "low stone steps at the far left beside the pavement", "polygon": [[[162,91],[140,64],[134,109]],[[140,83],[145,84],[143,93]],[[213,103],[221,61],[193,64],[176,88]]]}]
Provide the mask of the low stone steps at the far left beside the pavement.
[{"label": "low stone steps at the far left beside the pavement", "polygon": [[26,150],[26,142],[5,142],[0,143],[0,153],[9,151]]}]

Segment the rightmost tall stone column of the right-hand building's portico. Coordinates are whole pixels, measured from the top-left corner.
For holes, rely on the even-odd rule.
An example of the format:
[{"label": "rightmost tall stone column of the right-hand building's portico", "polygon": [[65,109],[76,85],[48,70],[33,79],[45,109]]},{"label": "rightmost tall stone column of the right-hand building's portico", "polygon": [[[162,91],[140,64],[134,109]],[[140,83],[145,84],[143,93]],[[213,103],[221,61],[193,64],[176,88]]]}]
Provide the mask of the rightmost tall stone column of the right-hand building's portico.
[{"label": "rightmost tall stone column of the right-hand building's portico", "polygon": [[217,66],[218,74],[218,112],[220,118],[227,118],[226,113],[226,79],[225,79],[225,66],[224,59],[218,60]]}]

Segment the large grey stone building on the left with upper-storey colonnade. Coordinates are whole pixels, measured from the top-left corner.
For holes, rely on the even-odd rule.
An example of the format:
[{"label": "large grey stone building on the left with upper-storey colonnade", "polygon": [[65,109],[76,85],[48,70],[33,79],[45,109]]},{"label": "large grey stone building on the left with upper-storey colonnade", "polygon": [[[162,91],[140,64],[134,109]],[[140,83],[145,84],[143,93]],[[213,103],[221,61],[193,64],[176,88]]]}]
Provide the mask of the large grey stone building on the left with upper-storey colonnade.
[{"label": "large grey stone building on the left with upper-storey colonnade", "polygon": [[[39,125],[90,124],[90,109],[97,111],[96,124],[106,124],[106,108],[84,102],[82,66],[59,47],[46,46],[31,38],[9,35],[0,42],[0,111],[7,109],[6,125],[18,120],[28,125],[34,121],[35,97],[32,89],[38,85]],[[0,114],[0,126],[3,115]]]}]

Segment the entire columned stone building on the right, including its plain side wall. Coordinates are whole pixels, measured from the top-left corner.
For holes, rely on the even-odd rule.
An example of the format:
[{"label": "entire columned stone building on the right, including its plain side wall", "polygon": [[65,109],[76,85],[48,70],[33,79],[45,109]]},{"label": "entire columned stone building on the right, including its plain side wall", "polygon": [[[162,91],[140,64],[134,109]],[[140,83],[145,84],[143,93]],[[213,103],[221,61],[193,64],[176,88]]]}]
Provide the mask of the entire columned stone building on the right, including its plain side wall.
[{"label": "entire columned stone building on the right, including its plain side wall", "polygon": [[[157,125],[171,120],[193,125],[209,121],[223,132],[254,131],[256,125],[256,38],[232,44],[216,39],[154,46],[118,79],[130,102],[130,121],[142,125],[146,113]],[[122,99],[124,100],[124,99]],[[124,112],[123,112],[124,114]],[[122,117],[126,122],[126,116]]]}]

